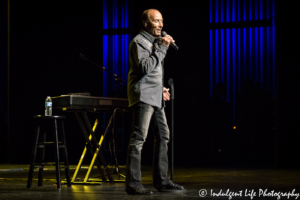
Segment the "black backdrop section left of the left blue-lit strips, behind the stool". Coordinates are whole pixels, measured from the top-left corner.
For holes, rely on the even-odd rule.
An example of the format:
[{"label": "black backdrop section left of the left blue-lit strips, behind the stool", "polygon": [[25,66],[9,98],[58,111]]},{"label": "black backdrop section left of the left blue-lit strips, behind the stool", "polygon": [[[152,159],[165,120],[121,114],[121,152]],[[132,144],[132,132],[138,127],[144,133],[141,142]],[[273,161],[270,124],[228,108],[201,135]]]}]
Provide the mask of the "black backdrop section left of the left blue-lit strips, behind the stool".
[{"label": "black backdrop section left of the left blue-lit strips, behind the stool", "polygon": [[[10,21],[8,161],[28,163],[32,117],[44,114],[47,96],[102,94],[102,71],[79,58],[82,53],[96,63],[102,62],[102,3],[12,2]],[[53,114],[61,113],[55,110]],[[75,117],[66,115],[70,161],[74,164],[85,142]]]}]

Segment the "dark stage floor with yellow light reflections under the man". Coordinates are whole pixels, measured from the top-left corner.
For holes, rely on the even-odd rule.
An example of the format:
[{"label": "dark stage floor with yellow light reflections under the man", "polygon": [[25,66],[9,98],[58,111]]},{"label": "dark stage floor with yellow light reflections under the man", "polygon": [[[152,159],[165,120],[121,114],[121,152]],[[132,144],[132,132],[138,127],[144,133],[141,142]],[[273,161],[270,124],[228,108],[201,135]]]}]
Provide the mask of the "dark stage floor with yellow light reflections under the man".
[{"label": "dark stage floor with yellow light reflections under the man", "polygon": [[[71,176],[75,170],[71,165]],[[56,188],[54,167],[47,167],[44,172],[44,185],[37,186],[38,171],[34,173],[31,189],[27,189],[29,165],[0,165],[0,200],[4,199],[278,199],[276,194],[288,194],[289,199],[296,199],[300,192],[300,170],[287,169],[202,169],[176,168],[174,182],[187,189],[186,194],[167,194],[157,192],[152,186],[151,166],[142,166],[142,183],[154,192],[153,195],[127,195],[123,182],[104,182],[101,185],[63,185]],[[80,171],[78,178],[84,178],[87,166]],[[111,169],[112,171],[112,169]],[[125,167],[120,166],[120,172],[125,173]],[[65,178],[61,171],[62,179]],[[97,177],[94,168],[91,178]],[[207,195],[199,196],[199,191],[205,189]],[[295,189],[295,190],[294,190]],[[222,191],[221,191],[222,190]],[[228,193],[227,193],[227,190]],[[293,192],[294,190],[294,192]],[[272,193],[273,191],[273,193]],[[283,192],[280,193],[280,192]],[[223,193],[223,194],[222,194]],[[226,194],[227,193],[227,194]],[[255,193],[255,194],[254,194]],[[201,194],[205,194],[202,190]],[[213,197],[214,195],[214,197]],[[219,195],[219,196],[218,196]],[[288,199],[281,196],[282,199]],[[298,198],[300,199],[300,197]]]}]

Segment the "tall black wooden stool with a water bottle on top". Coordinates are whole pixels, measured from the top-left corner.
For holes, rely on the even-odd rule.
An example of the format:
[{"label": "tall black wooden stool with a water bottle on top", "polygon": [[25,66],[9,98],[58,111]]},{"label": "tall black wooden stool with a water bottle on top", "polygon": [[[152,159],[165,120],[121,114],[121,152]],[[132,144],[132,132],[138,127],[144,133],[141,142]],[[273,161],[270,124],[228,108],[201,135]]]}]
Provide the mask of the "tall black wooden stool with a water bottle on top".
[{"label": "tall black wooden stool with a water bottle on top", "polygon": [[[35,122],[35,132],[34,132],[34,144],[32,148],[31,153],[31,161],[30,161],[30,169],[29,169],[29,175],[28,175],[28,181],[27,181],[27,188],[31,188],[32,184],[32,176],[33,176],[33,170],[35,166],[39,168],[39,178],[38,178],[38,186],[43,185],[43,170],[44,166],[53,166],[55,165],[56,168],[56,181],[57,181],[57,188],[61,188],[61,178],[60,178],[60,169],[65,168],[66,173],[66,179],[67,179],[67,185],[68,187],[71,186],[71,180],[70,180],[70,171],[69,171],[69,162],[68,162],[68,154],[67,154],[67,145],[66,145],[66,138],[65,138],[65,130],[64,130],[64,122],[65,116],[42,116],[42,115],[35,115],[33,117]],[[61,122],[61,142],[58,142],[58,122]],[[46,142],[46,132],[47,125],[52,124],[53,126],[53,136],[54,136],[54,142]],[[44,137],[43,141],[39,142],[39,134],[40,130],[43,128],[44,130]],[[45,160],[45,147],[46,145],[54,145],[54,153],[55,153],[55,163],[49,163],[44,162]],[[36,163],[36,154],[37,149],[42,149],[42,155],[41,155],[41,162]],[[64,157],[64,166],[60,166],[60,159],[59,159],[59,148],[63,148],[63,157]]]}]

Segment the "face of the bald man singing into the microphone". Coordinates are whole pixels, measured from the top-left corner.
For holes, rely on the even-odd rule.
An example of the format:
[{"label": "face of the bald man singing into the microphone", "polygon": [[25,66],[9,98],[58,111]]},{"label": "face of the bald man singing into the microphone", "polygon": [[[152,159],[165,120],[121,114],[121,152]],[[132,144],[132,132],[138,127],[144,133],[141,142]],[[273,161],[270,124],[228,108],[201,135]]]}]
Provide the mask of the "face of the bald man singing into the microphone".
[{"label": "face of the bald man singing into the microphone", "polygon": [[163,27],[163,18],[160,12],[157,10],[150,10],[148,12],[149,19],[146,23],[145,27],[148,33],[153,35],[154,37],[158,37],[161,35],[161,30]]}]

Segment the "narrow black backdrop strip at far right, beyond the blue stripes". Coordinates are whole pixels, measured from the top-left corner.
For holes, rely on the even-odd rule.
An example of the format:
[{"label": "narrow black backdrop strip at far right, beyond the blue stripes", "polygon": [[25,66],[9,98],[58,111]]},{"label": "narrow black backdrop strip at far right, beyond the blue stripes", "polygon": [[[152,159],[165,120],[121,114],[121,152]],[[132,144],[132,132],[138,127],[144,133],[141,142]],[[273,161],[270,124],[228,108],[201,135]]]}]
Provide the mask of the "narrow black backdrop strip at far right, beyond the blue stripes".
[{"label": "narrow black backdrop strip at far right, beyond the blue stripes", "polygon": [[296,31],[299,16],[297,8],[286,2],[277,7],[278,156],[281,166],[297,168],[293,160],[300,153],[300,38]]}]

